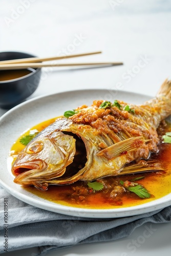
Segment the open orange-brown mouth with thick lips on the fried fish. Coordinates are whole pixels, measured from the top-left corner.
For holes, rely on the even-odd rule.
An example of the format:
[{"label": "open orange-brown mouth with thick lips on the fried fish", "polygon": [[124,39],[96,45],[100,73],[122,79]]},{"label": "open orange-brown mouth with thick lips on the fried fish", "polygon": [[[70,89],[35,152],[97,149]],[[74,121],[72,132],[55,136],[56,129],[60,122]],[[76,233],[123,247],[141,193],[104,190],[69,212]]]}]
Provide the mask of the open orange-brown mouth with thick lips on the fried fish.
[{"label": "open orange-brown mouth with thick lips on the fried fish", "polygon": [[46,169],[46,167],[47,167],[46,162],[40,159],[36,159],[36,160],[24,162],[24,163],[14,163],[14,165],[12,166],[12,174],[14,176],[18,176],[27,172],[28,170],[33,170],[33,169],[44,170]]}]

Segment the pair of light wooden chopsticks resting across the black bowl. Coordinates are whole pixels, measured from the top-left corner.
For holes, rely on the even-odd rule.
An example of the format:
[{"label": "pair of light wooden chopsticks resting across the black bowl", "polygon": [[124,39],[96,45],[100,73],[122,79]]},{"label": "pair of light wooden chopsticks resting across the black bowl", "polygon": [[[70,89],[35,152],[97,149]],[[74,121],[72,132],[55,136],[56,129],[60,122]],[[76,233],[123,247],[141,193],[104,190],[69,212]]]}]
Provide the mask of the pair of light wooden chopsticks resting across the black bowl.
[{"label": "pair of light wooden chopsticks resting across the black bowl", "polygon": [[12,59],[12,60],[3,60],[0,61],[0,70],[12,70],[12,69],[27,69],[27,68],[44,68],[44,67],[72,67],[72,66],[118,66],[123,65],[122,62],[88,62],[88,63],[42,63],[44,61],[58,60],[58,59],[67,59],[75,58],[87,55],[98,54],[99,52],[89,52],[82,54],[74,54],[68,56],[55,56],[47,58],[23,58],[23,59]]}]

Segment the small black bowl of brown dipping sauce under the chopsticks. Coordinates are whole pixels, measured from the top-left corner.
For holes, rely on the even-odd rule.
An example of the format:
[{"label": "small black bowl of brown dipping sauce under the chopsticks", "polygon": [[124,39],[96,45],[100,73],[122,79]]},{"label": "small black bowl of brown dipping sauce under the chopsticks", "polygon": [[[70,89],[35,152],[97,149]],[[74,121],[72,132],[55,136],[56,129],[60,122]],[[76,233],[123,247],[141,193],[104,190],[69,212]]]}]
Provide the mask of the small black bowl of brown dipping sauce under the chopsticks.
[{"label": "small black bowl of brown dipping sauce under the chopsticks", "polygon": [[[36,57],[24,52],[0,52],[1,60]],[[41,69],[0,70],[0,108],[11,109],[38,87]]]}]

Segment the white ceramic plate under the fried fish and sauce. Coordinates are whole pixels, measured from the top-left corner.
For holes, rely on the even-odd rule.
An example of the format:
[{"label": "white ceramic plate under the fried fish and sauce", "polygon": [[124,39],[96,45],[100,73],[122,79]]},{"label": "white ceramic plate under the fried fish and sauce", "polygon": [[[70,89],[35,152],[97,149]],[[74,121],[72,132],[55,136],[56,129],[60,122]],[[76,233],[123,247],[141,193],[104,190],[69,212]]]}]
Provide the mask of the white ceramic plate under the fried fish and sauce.
[{"label": "white ceramic plate under the fried fish and sauce", "polygon": [[83,209],[56,204],[39,198],[13,182],[7,169],[7,157],[13,142],[28,128],[39,122],[62,115],[67,110],[82,104],[91,104],[95,99],[115,100],[140,104],[148,100],[145,95],[109,90],[79,90],[34,98],[19,104],[0,118],[0,183],[14,197],[36,207],[78,217],[118,218],[143,214],[171,204],[171,194],[149,203],[116,209]]}]

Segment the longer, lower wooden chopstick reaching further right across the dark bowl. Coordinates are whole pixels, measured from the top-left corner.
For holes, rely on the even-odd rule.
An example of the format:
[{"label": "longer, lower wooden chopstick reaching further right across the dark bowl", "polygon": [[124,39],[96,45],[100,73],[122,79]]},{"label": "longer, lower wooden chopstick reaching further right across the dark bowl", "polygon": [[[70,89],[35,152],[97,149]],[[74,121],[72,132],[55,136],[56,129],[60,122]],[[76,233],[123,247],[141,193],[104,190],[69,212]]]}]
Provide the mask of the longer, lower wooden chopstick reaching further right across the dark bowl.
[{"label": "longer, lower wooden chopstick reaching further right across the dark bowl", "polygon": [[27,68],[46,68],[46,67],[72,67],[72,66],[118,66],[122,62],[90,62],[90,63],[63,63],[63,64],[44,64],[44,63],[16,63],[0,65],[0,70],[16,70]]}]

